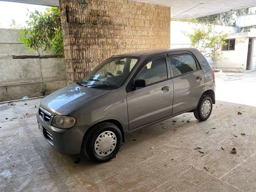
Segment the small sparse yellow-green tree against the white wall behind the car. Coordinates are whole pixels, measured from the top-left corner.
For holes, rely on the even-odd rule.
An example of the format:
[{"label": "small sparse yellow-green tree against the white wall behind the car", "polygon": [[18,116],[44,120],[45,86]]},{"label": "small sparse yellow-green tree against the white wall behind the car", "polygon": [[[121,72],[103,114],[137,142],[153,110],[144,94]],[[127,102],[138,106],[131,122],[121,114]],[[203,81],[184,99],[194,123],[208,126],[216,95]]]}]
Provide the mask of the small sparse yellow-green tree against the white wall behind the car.
[{"label": "small sparse yellow-green tree against the white wall behind the car", "polygon": [[195,28],[194,33],[186,35],[190,38],[191,47],[198,49],[205,57],[220,61],[226,59],[221,57],[219,49],[227,45],[225,40],[228,34],[212,32],[212,25],[203,25],[202,28]]}]

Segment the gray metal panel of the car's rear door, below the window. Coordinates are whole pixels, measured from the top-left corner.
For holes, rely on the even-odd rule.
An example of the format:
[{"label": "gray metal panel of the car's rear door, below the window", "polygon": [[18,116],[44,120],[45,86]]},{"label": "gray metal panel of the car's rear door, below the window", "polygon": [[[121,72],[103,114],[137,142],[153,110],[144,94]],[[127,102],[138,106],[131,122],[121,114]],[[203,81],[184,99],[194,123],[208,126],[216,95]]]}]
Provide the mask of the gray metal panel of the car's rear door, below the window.
[{"label": "gray metal panel of the car's rear door, below the window", "polygon": [[[201,81],[196,79],[201,76]],[[204,74],[197,70],[173,79],[174,96],[172,115],[194,108],[204,91]]]}]

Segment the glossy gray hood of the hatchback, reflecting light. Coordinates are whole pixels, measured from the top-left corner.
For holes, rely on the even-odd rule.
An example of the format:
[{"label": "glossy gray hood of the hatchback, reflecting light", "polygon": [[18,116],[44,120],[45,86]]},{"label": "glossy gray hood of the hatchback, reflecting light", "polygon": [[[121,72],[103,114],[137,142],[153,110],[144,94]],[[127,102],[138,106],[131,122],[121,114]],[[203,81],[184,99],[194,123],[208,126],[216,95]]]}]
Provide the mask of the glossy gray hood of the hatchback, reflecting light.
[{"label": "glossy gray hood of the hatchback, reflecting light", "polygon": [[52,115],[68,115],[80,106],[110,91],[71,84],[46,96],[41,100],[40,107]]}]

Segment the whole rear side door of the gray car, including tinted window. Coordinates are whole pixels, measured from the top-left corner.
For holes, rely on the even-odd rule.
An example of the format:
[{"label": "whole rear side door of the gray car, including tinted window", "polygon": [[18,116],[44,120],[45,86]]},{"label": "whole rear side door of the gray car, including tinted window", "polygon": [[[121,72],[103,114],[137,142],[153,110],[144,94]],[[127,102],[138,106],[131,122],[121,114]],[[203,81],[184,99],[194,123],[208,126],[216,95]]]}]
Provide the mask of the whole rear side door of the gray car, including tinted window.
[{"label": "whole rear side door of the gray car, including tinted window", "polygon": [[172,115],[194,108],[204,91],[204,73],[191,52],[168,54],[173,81]]}]

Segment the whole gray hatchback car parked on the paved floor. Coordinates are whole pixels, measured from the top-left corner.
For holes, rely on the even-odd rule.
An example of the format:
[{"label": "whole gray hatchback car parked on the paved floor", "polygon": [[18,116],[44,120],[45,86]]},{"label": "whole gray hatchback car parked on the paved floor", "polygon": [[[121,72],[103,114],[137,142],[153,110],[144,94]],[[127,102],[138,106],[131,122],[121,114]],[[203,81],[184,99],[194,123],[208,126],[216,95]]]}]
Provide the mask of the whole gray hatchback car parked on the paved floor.
[{"label": "whole gray hatchback car parked on the paved floor", "polygon": [[60,153],[81,150],[95,162],[113,158],[125,133],[186,112],[205,121],[215,77],[196,49],[114,55],[87,77],[41,100],[38,129]]}]

